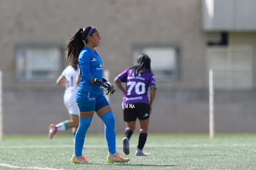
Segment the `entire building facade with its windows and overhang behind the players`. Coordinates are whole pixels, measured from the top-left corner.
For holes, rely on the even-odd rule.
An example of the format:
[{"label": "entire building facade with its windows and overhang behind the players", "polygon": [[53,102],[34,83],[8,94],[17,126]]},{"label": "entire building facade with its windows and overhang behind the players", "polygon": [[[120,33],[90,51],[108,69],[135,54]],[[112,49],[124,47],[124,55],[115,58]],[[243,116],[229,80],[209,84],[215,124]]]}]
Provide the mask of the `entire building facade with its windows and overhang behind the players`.
[{"label": "entire building facade with its windows and overhang behind the players", "polygon": [[[151,57],[150,133],[208,133],[209,69],[216,132],[255,132],[255,7],[252,0],[0,0],[4,134],[47,134],[49,124],[69,119],[55,80],[67,64],[66,41],[90,25],[100,32],[96,50],[110,81],[140,53]],[[122,133],[122,93],[109,102]],[[103,129],[95,114],[89,132]]]}]

